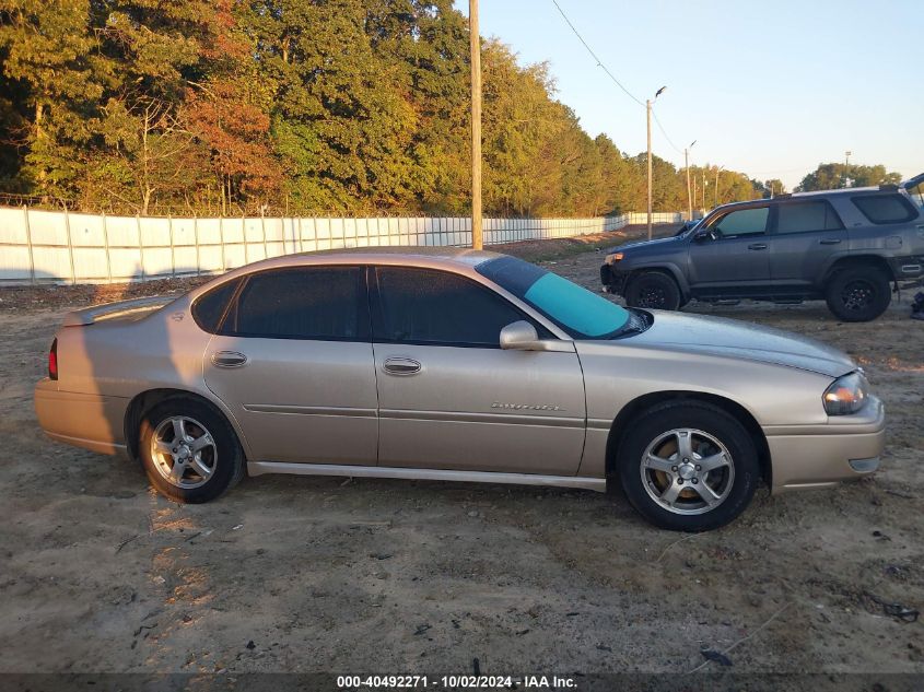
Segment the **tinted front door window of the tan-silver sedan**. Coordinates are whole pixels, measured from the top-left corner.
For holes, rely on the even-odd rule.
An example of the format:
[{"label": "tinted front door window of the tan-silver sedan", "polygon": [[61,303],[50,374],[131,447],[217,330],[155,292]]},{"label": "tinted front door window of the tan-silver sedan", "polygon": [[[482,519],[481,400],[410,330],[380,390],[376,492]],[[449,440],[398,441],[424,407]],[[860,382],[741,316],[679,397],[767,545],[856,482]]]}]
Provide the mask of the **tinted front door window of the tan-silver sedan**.
[{"label": "tinted front door window of the tan-silver sedan", "polygon": [[431,269],[379,267],[376,341],[500,348],[501,329],[524,315],[489,289]]}]

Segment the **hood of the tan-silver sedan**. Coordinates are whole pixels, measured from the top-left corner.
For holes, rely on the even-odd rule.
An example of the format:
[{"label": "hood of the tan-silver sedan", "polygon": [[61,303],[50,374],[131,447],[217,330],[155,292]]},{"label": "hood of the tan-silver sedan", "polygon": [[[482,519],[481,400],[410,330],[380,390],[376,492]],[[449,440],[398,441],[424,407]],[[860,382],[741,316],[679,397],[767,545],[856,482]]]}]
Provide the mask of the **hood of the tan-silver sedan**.
[{"label": "hood of the tan-silver sedan", "polygon": [[857,368],[841,351],[780,329],[722,317],[651,312],[654,324],[623,343],[758,361],[829,377],[840,377]]}]

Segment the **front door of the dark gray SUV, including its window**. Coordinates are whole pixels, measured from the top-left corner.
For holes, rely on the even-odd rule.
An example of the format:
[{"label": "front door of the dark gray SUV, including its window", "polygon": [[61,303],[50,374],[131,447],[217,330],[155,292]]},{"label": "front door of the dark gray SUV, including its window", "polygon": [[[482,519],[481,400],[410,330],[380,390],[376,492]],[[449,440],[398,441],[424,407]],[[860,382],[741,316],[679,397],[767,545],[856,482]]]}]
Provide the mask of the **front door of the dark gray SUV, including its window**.
[{"label": "front door of the dark gray SUV, including its window", "polygon": [[[770,207],[737,209],[703,228],[704,239],[690,241],[690,285],[699,294],[747,294],[770,283],[768,221]],[[699,236],[700,231],[694,234]]]}]

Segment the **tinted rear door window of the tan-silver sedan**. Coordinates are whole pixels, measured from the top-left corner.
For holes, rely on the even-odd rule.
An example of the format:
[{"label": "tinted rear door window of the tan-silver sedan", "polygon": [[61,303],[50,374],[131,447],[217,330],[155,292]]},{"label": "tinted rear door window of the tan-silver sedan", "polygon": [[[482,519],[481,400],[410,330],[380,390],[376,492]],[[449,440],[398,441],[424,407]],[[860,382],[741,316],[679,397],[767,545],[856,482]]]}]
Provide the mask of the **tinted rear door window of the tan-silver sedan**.
[{"label": "tinted rear door window of the tan-silver sedan", "polygon": [[366,338],[367,301],[358,267],[304,267],[253,274],[222,333],[268,339]]}]

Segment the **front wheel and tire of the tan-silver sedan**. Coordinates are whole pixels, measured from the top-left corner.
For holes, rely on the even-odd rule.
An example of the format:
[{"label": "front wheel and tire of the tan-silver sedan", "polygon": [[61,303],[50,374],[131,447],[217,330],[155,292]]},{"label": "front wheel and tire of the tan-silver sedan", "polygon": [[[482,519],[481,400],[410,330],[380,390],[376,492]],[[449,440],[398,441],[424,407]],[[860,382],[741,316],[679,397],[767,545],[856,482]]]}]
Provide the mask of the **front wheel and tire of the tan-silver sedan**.
[{"label": "front wheel and tire of the tan-silver sedan", "polygon": [[[691,442],[689,457],[680,456],[683,431]],[[650,451],[657,458],[643,467]],[[704,471],[697,464],[723,459],[713,470]],[[651,464],[666,466],[659,470]],[[725,526],[750,504],[760,478],[757,448],[748,431],[725,410],[699,401],[660,403],[636,417],[619,446],[617,470],[639,514],[672,531]],[[667,506],[670,501],[663,499],[670,492],[676,495],[672,509]],[[704,500],[707,494],[715,503],[712,508]]]}]

